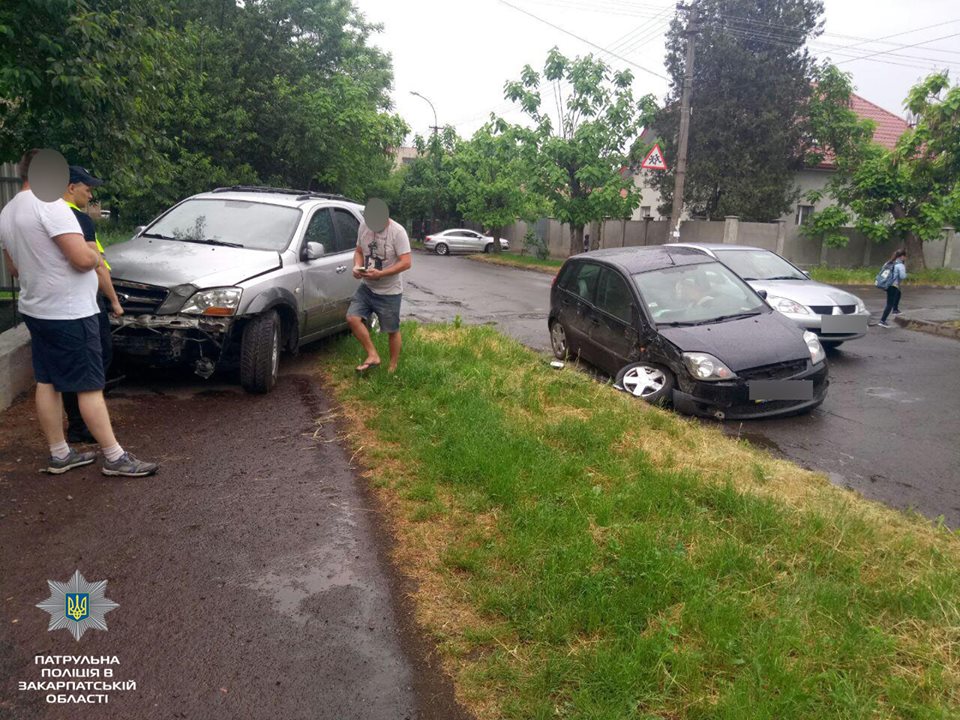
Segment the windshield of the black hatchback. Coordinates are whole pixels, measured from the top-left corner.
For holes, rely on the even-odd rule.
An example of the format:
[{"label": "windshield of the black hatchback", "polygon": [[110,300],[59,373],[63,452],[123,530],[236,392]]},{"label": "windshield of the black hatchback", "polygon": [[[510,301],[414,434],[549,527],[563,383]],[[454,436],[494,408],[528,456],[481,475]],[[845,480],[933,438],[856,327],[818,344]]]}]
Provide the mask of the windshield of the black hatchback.
[{"label": "windshield of the black hatchback", "polygon": [[660,325],[700,325],[769,311],[749,285],[718,262],[651,270],[633,281]]}]

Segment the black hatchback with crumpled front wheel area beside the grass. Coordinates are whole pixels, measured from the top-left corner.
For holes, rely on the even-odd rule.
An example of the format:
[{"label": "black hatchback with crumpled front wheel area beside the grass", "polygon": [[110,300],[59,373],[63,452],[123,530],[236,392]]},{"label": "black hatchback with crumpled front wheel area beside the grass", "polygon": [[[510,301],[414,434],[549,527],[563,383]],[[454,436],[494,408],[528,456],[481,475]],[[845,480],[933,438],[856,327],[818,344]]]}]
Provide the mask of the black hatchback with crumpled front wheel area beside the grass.
[{"label": "black hatchback with crumpled front wheel area beside the grass", "polygon": [[826,396],[816,335],[696,250],[576,255],[554,279],[548,324],[558,358],[580,357],[621,389],[690,415],[787,415]]}]

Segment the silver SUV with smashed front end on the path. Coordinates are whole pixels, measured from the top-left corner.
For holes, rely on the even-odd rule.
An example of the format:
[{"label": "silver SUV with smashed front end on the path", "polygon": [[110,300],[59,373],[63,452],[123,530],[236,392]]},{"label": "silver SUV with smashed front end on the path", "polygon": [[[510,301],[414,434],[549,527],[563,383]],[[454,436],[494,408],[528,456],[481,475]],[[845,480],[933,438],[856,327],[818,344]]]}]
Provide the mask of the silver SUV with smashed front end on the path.
[{"label": "silver SUV with smashed front end on the path", "polygon": [[339,195],[237,186],[174,205],[109,248],[121,360],[240,371],[255,393],[280,353],[346,329],[363,207]]}]

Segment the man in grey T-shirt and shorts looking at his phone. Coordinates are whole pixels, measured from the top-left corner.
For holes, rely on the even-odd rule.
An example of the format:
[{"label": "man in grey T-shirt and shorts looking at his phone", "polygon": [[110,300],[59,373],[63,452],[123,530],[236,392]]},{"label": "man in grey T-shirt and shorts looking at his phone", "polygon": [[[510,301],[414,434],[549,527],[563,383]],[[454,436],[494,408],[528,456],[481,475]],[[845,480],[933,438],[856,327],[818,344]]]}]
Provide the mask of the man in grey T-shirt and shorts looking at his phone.
[{"label": "man in grey T-shirt and shorts looking at his phone", "polygon": [[365,372],[380,365],[380,355],[370,339],[367,324],[376,313],[380,328],[389,336],[390,365],[388,372],[397,369],[400,360],[400,300],[403,280],[400,273],[412,263],[410,238],[403,226],[389,217],[387,205],[372,198],[363,210],[364,222],[357,233],[357,249],[353,258],[353,276],[360,279],[350,307],[347,323],[367,353],[357,366]]}]

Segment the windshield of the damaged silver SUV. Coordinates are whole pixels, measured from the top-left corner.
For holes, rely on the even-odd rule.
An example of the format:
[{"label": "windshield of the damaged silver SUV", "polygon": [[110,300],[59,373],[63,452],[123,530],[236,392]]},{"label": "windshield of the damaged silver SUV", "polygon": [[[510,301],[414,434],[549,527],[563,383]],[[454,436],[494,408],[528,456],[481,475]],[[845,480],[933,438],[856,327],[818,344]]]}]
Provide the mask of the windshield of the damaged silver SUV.
[{"label": "windshield of the damaged silver SUV", "polygon": [[248,200],[197,199],[177,205],[144,235],[281,252],[299,223],[297,208]]}]

